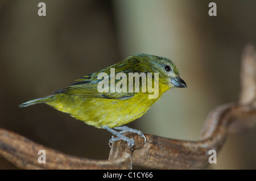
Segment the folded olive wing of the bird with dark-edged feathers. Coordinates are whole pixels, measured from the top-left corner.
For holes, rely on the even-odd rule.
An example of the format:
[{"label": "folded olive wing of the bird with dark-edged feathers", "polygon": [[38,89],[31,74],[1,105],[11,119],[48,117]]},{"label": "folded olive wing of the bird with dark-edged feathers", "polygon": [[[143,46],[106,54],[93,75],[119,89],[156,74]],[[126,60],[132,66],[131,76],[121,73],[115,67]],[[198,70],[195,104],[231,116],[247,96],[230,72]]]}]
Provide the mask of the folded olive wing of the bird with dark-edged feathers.
[{"label": "folded olive wing of the bird with dark-edged feathers", "polygon": [[[110,76],[109,76],[109,85],[110,85]],[[105,99],[118,99],[126,100],[132,98],[134,92],[99,92],[98,83],[102,79],[97,79],[96,74],[85,75],[79,79],[76,79],[76,83],[65,87],[64,89],[55,91],[56,94],[72,94],[78,96],[84,96],[86,98],[105,98]],[[115,80],[115,83],[119,80]]]}]

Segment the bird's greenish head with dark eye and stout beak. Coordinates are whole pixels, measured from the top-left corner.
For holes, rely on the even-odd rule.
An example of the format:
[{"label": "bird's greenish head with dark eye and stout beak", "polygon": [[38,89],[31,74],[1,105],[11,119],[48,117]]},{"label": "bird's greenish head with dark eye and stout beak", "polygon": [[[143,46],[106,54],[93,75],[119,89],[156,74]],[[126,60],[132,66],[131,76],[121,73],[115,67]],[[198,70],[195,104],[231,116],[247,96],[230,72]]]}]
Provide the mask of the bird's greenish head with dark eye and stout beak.
[{"label": "bird's greenish head with dark eye and stout beak", "polygon": [[[134,54],[127,58],[129,60],[139,60],[140,65],[138,68],[146,69],[147,72],[159,73],[159,82],[163,85],[172,87],[187,87],[183,79],[180,78],[179,70],[177,69],[174,62],[166,57],[154,56],[151,54]],[[145,71],[145,70],[142,70]]]}]

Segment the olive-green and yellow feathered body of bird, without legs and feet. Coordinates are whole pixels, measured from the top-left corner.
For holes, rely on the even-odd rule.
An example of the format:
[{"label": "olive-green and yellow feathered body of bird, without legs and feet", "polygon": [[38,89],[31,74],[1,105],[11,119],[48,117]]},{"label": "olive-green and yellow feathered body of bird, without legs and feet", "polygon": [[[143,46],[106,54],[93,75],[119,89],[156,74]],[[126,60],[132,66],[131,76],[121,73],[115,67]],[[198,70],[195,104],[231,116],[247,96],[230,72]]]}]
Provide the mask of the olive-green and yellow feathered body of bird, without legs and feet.
[{"label": "olive-green and yellow feathered body of bird, without legs and feet", "polygon": [[[150,92],[99,92],[97,89],[101,79],[99,73],[110,75],[110,68],[115,74],[125,73],[159,73],[158,97],[148,99]],[[96,73],[85,75],[70,86],[56,91],[55,95],[30,100],[19,107],[46,103],[59,111],[69,113],[78,120],[97,128],[118,127],[138,119],[156,103],[160,96],[172,87],[185,87],[185,82],[179,78],[175,64],[165,57],[149,54],[135,54],[117,64],[108,66]],[[117,83],[119,80],[115,80]],[[110,83],[110,80],[109,80]],[[141,90],[141,89],[140,89]]]}]

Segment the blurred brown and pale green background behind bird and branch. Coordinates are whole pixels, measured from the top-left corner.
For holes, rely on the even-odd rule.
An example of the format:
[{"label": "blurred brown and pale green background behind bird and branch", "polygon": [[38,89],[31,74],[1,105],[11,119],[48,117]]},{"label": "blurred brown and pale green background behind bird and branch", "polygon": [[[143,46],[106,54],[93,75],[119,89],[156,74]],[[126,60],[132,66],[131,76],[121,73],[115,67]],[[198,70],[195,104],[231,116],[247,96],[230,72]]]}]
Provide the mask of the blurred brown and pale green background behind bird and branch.
[{"label": "blurred brown and pale green background behind bird and branch", "polygon": [[[46,15],[38,16],[38,3]],[[76,78],[131,54],[166,56],[187,89],[162,96],[128,126],[144,133],[199,140],[208,113],[236,102],[241,53],[256,43],[256,1],[197,0],[0,0],[0,127],[63,153],[108,159],[111,134],[46,104],[27,100],[51,95]],[[256,129],[228,137],[212,169],[256,169]],[[0,169],[16,169],[0,157]]]}]

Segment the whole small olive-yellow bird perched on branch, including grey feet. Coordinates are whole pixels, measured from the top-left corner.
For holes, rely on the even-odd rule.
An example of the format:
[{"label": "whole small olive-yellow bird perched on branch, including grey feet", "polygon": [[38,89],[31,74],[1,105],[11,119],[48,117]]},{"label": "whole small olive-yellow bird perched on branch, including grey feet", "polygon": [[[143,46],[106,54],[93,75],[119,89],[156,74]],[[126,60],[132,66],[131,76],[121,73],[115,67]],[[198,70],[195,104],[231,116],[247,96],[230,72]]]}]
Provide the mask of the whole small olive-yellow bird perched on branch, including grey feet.
[{"label": "whole small olive-yellow bird perched on branch, including grey feet", "polygon": [[76,81],[55,91],[55,95],[29,100],[19,107],[46,103],[86,124],[111,132],[113,136],[109,144],[124,140],[129,147],[134,146],[134,140],[123,133],[137,133],[145,142],[146,137],[141,131],[122,125],[144,115],[167,90],[187,87],[174,62],[144,53],[134,54]]}]

